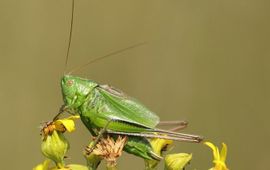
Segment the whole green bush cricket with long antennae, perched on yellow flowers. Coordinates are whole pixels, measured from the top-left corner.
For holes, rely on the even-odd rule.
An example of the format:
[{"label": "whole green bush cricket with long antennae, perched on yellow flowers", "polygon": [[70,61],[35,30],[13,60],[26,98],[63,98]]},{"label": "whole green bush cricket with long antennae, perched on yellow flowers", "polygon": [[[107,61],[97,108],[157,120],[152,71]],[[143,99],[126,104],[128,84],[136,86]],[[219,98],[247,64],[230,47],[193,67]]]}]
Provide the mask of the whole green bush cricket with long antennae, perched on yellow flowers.
[{"label": "whole green bush cricket with long antennae, perched on yellow flowers", "polygon": [[[71,44],[73,13],[74,0],[72,0],[72,18],[66,65]],[[139,45],[141,44],[96,58],[82,67]],[[160,159],[152,151],[148,138],[164,138],[195,143],[199,143],[202,140],[197,135],[156,128],[162,122],[159,121],[159,117],[155,113],[151,112],[136,99],[125,95],[111,86],[100,85],[92,80],[65,74],[61,79],[61,89],[64,105],[55,119],[64,112],[78,113],[82,122],[93,136],[98,136],[99,138],[103,132],[109,135],[128,136],[124,150],[144,159]],[[185,122],[181,121],[172,123],[180,124],[179,129],[186,126]]]}]

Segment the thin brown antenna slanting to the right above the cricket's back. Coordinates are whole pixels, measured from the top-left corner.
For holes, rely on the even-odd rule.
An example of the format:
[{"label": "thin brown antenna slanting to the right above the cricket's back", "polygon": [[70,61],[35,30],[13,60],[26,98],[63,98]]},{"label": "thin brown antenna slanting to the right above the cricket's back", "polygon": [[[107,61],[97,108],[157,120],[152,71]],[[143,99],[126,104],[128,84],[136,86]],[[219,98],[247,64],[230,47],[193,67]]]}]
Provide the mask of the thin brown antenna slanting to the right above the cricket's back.
[{"label": "thin brown antenna slanting to the right above the cricket's back", "polygon": [[109,54],[106,54],[106,55],[104,55],[104,56],[94,58],[93,60],[90,60],[89,62],[87,62],[87,63],[85,63],[85,64],[83,64],[83,65],[81,65],[81,66],[74,67],[73,69],[71,69],[71,71],[70,71],[68,74],[71,74],[71,73],[73,73],[74,71],[81,70],[82,68],[88,66],[88,65],[91,64],[91,63],[97,62],[97,61],[99,61],[99,60],[103,60],[103,59],[105,59],[105,58],[108,58],[108,57],[111,57],[111,56],[113,56],[113,55],[122,53],[122,52],[127,51],[127,50],[130,50],[130,49],[132,49],[132,48],[136,48],[136,47],[142,46],[142,45],[144,45],[144,44],[146,44],[146,42],[134,44],[134,45],[131,45],[131,46],[129,46],[129,47],[126,47],[126,48],[123,48],[123,49],[120,49],[120,50],[117,50],[117,51],[113,51],[113,52],[111,52],[111,53],[109,53]]}]

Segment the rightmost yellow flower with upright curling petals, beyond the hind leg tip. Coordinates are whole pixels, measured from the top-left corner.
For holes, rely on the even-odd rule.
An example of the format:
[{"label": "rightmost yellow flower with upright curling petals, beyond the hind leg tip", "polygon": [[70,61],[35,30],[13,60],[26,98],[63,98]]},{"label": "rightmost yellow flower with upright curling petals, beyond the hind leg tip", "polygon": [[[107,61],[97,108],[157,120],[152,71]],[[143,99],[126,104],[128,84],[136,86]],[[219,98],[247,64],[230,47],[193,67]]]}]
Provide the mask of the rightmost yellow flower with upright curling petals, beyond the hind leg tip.
[{"label": "rightmost yellow flower with upright curling petals, beyond the hind leg tip", "polygon": [[213,150],[213,163],[215,164],[215,166],[210,170],[228,170],[225,163],[227,157],[227,145],[225,143],[222,143],[222,149],[221,152],[219,152],[218,147],[215,146],[213,143],[204,142],[204,144]]}]

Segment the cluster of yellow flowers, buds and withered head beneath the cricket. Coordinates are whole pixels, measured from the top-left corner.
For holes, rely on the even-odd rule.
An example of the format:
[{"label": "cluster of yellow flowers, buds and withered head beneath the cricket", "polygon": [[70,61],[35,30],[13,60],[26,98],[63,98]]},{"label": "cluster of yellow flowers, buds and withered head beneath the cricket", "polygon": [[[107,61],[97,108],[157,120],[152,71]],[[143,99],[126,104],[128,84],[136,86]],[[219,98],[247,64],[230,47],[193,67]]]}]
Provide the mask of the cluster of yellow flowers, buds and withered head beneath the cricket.
[{"label": "cluster of yellow flowers, buds and withered head beneath the cricket", "polygon": [[[42,128],[42,143],[41,151],[46,157],[46,160],[37,165],[33,170],[87,170],[88,168],[83,165],[70,164],[65,165],[64,158],[69,149],[69,143],[64,136],[64,132],[73,132],[75,130],[74,120],[79,116],[70,116],[64,119],[58,119],[53,122],[46,123]],[[116,138],[115,138],[116,139]],[[115,140],[114,137],[108,136],[102,138],[97,144],[92,141],[89,148],[93,147],[91,151],[85,154],[88,167],[97,168],[100,161],[105,159],[107,161],[107,169],[109,167],[116,167],[116,159],[122,155],[122,150],[127,142],[127,137],[118,136]],[[172,145],[172,140],[153,138],[150,139],[150,144],[153,152],[162,158],[163,151]],[[214,167],[209,170],[229,170],[226,165],[227,145],[222,143],[221,151],[217,146],[211,142],[204,142],[204,144],[212,149]],[[89,149],[88,148],[88,149]],[[88,150],[86,149],[86,152]],[[165,170],[183,170],[186,165],[191,161],[192,154],[188,153],[175,153],[167,154],[164,156]],[[51,162],[55,166],[50,166]],[[145,167],[147,170],[156,169],[159,160],[145,160]]]}]

